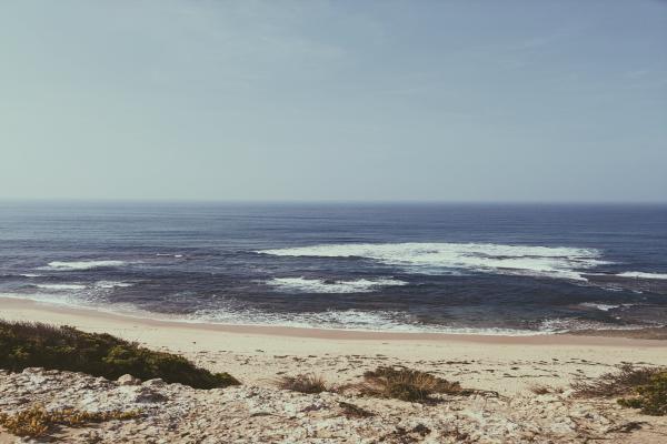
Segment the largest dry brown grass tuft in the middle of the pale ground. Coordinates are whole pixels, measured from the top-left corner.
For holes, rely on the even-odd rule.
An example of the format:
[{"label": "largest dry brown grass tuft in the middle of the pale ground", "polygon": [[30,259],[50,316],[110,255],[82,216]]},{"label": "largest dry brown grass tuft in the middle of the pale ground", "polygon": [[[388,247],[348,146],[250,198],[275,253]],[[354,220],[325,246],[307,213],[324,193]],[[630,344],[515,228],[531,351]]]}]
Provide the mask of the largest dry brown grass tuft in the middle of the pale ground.
[{"label": "largest dry brown grass tuft in the middle of the pale ground", "polygon": [[377,367],[364,374],[365,383],[359,385],[362,394],[391,397],[409,402],[426,402],[435,393],[465,395],[471,391],[461,389],[458,382],[450,382],[430,373],[410,369]]}]

